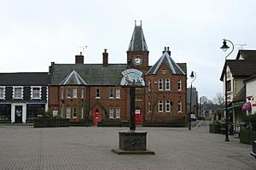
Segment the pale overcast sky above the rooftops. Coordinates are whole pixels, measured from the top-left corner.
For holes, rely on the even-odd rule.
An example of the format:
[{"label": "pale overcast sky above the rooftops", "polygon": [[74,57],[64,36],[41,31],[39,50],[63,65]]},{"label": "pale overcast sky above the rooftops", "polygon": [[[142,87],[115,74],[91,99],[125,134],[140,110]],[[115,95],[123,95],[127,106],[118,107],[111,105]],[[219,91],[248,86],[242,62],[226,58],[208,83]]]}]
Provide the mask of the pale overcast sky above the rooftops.
[{"label": "pale overcast sky above the rooftops", "polygon": [[[225,55],[222,39],[256,49],[253,0],[0,0],[0,72],[48,71],[50,62],[125,63],[134,20],[143,21],[154,65],[169,46],[176,62],[186,62],[199,95],[223,93],[219,77]],[[230,46],[230,44],[228,44]],[[235,45],[229,59],[235,59]],[[1,81],[1,80],[0,80]],[[188,86],[190,78],[188,77]]]}]

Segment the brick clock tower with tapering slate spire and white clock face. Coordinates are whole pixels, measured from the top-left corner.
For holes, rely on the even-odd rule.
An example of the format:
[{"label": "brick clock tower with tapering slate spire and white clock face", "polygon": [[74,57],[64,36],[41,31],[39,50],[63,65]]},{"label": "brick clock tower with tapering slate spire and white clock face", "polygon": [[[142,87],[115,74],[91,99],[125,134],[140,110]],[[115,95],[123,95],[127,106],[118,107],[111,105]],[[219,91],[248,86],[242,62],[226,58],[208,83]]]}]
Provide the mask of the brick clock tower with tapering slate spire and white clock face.
[{"label": "brick clock tower with tapering slate spire and white clock face", "polygon": [[127,50],[127,64],[130,68],[136,68],[145,74],[148,71],[148,46],[143,34],[142,21],[132,33],[131,42]]}]

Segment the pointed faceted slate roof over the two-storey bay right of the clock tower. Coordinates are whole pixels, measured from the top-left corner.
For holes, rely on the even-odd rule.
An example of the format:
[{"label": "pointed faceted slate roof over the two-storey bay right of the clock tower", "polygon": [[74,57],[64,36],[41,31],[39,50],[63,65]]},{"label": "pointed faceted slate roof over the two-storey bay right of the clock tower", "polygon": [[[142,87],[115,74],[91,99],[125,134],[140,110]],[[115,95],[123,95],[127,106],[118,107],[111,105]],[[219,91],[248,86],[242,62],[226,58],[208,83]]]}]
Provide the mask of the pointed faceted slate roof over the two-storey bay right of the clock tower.
[{"label": "pointed faceted slate roof over the two-storey bay right of the clock tower", "polygon": [[186,64],[180,64],[183,69],[177,65],[177,63],[172,59],[171,55],[169,55],[167,52],[164,52],[164,54],[162,54],[162,56],[160,57],[160,59],[158,59],[158,61],[156,61],[156,63],[149,69],[149,71],[146,73],[146,76],[148,75],[155,75],[157,73],[157,71],[160,68],[160,65],[162,65],[162,63],[165,63],[170,71],[172,71],[172,74],[175,75],[186,75],[186,71],[183,71],[184,67],[186,67]]}]

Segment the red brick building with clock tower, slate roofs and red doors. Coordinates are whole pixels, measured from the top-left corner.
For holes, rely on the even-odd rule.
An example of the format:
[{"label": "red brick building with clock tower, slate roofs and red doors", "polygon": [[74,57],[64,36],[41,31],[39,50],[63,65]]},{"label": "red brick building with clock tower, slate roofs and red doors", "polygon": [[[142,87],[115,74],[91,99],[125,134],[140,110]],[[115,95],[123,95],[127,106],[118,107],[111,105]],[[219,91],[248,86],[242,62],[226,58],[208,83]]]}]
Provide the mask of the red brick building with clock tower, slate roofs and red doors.
[{"label": "red brick building with clock tower, slate roofs and red doors", "polygon": [[135,26],[127,63],[108,64],[107,49],[102,64],[84,64],[82,54],[75,64],[49,66],[49,111],[71,119],[90,118],[129,121],[129,89],[119,86],[121,72],[129,68],[143,71],[144,88],[136,89],[136,122],[170,122],[186,118],[187,72],[185,63],[176,63],[169,48],[148,65],[148,46],[142,26]]}]

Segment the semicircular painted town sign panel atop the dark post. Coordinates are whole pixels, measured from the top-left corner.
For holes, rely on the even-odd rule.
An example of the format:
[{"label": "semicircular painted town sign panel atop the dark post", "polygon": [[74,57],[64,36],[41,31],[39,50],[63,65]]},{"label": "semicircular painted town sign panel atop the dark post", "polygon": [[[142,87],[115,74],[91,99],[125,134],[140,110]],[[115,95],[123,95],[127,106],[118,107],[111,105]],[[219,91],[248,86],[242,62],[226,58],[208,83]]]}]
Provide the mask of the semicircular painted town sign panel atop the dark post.
[{"label": "semicircular painted town sign panel atop the dark post", "polygon": [[127,69],[122,72],[124,76],[121,80],[121,86],[135,86],[142,87],[145,86],[145,82],[143,80],[143,72],[138,71],[137,69]]}]

